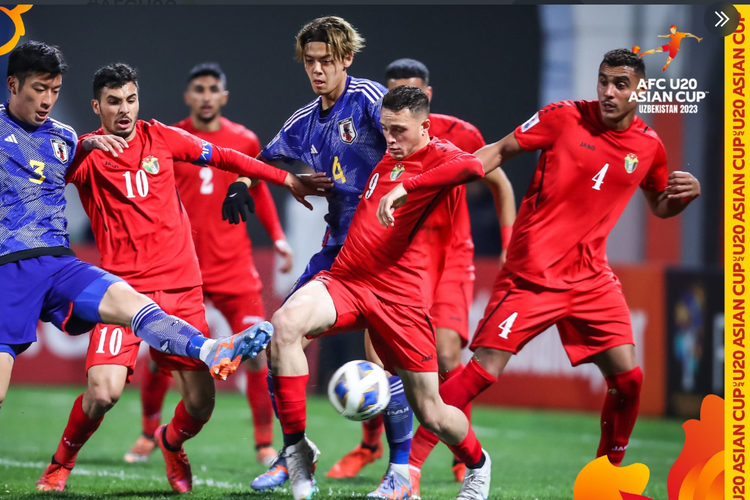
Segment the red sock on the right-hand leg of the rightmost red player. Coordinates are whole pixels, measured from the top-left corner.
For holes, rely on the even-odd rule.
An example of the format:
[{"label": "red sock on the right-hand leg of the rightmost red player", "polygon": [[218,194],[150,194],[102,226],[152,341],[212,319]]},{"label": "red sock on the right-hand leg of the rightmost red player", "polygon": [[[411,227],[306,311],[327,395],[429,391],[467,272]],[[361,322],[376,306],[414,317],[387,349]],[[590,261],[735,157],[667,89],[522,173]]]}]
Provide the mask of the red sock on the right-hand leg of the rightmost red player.
[{"label": "red sock on the right-hand leg of the rightmost red player", "polygon": [[636,366],[627,372],[605,377],[605,380],[607,396],[602,408],[602,436],[596,456],[607,455],[612,465],[619,466],[638,417],[643,372]]}]

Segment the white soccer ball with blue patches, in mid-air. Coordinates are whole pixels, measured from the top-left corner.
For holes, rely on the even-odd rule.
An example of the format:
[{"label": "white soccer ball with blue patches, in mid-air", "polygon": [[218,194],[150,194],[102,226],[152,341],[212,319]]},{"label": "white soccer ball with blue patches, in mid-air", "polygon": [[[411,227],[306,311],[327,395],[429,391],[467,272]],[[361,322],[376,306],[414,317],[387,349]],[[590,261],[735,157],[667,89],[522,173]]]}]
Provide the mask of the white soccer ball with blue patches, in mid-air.
[{"label": "white soccer ball with blue patches, in mid-air", "polygon": [[369,361],[350,361],[331,377],[328,399],[336,411],[349,420],[370,420],[391,400],[388,376]]}]

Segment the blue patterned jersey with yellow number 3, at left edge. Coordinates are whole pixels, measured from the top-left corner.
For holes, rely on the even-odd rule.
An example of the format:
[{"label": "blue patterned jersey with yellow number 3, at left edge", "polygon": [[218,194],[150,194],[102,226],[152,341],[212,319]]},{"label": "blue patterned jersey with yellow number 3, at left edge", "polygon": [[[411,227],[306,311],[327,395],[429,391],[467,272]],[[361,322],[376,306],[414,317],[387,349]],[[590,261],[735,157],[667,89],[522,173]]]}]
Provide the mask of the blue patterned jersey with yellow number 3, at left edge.
[{"label": "blue patterned jersey with yellow number 3, at left edge", "polygon": [[[75,155],[73,128],[48,118],[30,127],[0,105],[0,263],[16,252],[68,249],[65,174]],[[64,253],[72,253],[69,250]],[[24,252],[27,254],[27,252]]]}]

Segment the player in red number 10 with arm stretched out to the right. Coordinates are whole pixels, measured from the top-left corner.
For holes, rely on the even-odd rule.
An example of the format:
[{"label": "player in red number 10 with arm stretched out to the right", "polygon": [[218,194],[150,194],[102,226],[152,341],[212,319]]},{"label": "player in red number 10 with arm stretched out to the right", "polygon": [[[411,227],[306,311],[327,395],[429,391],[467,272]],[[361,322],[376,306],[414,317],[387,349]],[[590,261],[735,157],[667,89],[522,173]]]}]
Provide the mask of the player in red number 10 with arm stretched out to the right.
[{"label": "player in red number 10 with arm stretched out to the right", "polygon": [[[100,69],[93,86],[91,104],[102,127],[81,141],[101,145],[118,136],[123,147],[77,155],[68,181],[78,187],[91,218],[101,267],[127,279],[136,291],[205,335],[208,326],[201,276],[190,222],[176,190],[173,162],[194,161],[283,184],[297,198],[303,198],[308,190],[283,170],[157,121],[138,120],[137,74],[125,64]],[[70,473],[78,451],[119,399],[133,373],[139,343],[129,328],[105,324],[94,328],[86,357],[88,390],[76,400],[52,463],[37,483],[39,489],[64,489],[65,480],[56,479],[57,471],[64,468]],[[197,434],[211,416],[215,394],[212,373],[193,359],[155,349],[151,356],[161,370],[171,372],[182,394],[174,418],[156,431],[156,439],[170,485],[175,491],[190,491],[192,474],[182,443]]]}]

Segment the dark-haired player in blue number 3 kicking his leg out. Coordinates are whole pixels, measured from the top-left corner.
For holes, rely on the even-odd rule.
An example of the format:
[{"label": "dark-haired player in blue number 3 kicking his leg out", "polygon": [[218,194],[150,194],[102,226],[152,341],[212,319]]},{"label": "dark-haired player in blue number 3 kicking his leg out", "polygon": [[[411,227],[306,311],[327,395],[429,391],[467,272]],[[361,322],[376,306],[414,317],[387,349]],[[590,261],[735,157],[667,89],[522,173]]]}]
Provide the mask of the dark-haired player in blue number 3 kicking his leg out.
[{"label": "dark-haired player in blue number 3 kicking his leg out", "polygon": [[[16,356],[36,341],[39,320],[72,335],[96,323],[131,327],[157,349],[200,358],[217,376],[231,373],[227,361],[234,365],[262,349],[270,329],[231,342],[209,340],[70,249],[63,193],[78,137],[49,116],[66,69],[60,50],[42,42],[24,43],[8,57],[10,98],[0,105],[0,405]],[[83,147],[122,152],[126,143],[100,136]]]}]

